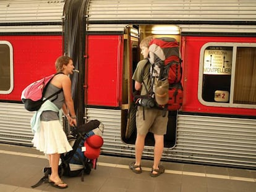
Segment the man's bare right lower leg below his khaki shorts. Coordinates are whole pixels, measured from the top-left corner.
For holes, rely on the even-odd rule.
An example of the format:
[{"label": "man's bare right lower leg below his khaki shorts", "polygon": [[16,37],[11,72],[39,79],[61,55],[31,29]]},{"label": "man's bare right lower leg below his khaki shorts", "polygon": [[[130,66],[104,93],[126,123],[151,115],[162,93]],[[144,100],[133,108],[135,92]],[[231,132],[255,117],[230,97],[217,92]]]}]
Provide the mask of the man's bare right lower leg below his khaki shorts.
[{"label": "man's bare right lower leg below his khaki shorts", "polygon": [[[153,169],[158,169],[158,165],[161,161],[161,157],[162,157],[162,154],[163,154],[164,136],[154,134],[154,138],[155,138],[155,148],[154,148]],[[156,174],[156,173],[157,172],[153,171],[153,174]]]}]

